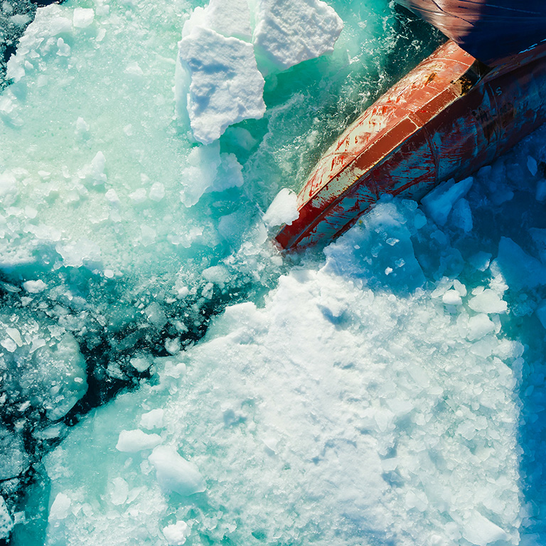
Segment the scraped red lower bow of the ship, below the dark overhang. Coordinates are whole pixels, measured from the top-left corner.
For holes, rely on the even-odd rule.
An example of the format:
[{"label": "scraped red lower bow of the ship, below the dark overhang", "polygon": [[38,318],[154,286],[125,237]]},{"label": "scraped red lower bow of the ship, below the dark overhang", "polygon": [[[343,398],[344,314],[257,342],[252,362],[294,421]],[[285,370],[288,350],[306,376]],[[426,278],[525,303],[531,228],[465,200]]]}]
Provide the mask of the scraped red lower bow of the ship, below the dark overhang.
[{"label": "scraped red lower bow of the ship, below the dark overhang", "polygon": [[481,70],[453,41],[441,45],[328,149],[299,193],[299,218],[277,242],[285,249],[329,242],[381,196],[419,200],[546,121],[546,45]]}]

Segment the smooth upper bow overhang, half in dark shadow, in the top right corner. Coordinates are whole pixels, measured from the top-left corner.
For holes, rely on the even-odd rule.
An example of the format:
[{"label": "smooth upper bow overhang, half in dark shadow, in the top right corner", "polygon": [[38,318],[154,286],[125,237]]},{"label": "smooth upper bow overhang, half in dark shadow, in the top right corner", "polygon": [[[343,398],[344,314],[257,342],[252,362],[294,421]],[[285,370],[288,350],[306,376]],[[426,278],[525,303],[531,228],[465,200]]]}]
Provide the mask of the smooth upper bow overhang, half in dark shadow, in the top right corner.
[{"label": "smooth upper bow overhang, half in dark shadow, in the top right corner", "polygon": [[546,38],[544,0],[396,0],[488,65]]}]

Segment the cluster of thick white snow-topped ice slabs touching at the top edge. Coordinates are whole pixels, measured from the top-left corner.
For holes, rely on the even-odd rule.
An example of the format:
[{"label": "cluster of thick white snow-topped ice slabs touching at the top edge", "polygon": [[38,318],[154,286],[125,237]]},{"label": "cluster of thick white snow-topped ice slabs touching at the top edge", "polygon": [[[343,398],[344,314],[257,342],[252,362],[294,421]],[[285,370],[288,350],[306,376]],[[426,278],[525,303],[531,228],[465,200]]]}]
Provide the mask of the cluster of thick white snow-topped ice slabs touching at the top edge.
[{"label": "cluster of thick white snow-topped ice slabs touching at the top edge", "polygon": [[342,29],[321,0],[213,0],[196,8],[178,43],[178,115],[185,119],[187,109],[202,144],[242,119],[261,118],[264,78],[255,54],[262,71],[284,70],[333,51]]}]

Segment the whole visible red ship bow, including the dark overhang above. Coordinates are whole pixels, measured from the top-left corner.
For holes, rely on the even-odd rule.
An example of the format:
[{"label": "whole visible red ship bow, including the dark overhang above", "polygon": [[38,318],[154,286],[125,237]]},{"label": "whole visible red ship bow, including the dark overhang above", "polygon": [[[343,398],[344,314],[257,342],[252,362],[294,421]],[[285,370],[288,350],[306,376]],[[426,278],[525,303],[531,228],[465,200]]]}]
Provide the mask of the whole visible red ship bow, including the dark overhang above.
[{"label": "whole visible red ship bow, including the dark overhang above", "polygon": [[285,249],[329,242],[382,196],[419,200],[546,121],[546,4],[397,0],[450,39],[326,151],[284,225]]}]

